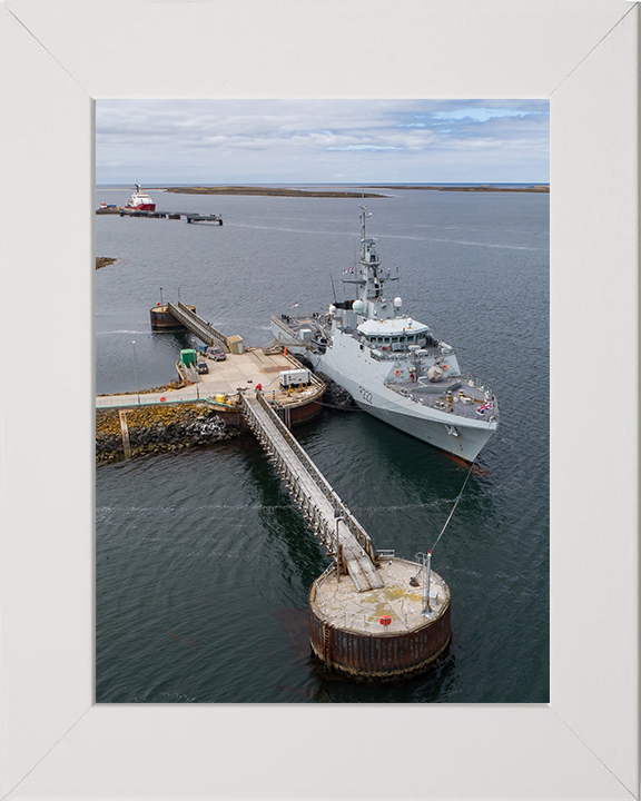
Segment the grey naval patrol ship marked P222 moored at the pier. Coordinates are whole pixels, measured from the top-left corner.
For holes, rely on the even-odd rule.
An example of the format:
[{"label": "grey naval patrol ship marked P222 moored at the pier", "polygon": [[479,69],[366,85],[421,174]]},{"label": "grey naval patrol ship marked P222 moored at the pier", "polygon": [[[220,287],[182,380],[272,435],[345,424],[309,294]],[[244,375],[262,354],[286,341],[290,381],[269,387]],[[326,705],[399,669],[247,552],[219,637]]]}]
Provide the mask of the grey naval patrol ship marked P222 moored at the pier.
[{"label": "grey naval patrol ship marked P222 moored at the pier", "polygon": [[476,456],[499,426],[493,393],[464,378],[456,353],[430,326],[389,300],[376,239],[367,237],[361,207],[361,253],[343,281],[355,285],[355,300],[335,301],[308,317],[272,316],[275,338],[304,355],[315,372],[343,387],[365,412],[406,434],[466,462]]}]

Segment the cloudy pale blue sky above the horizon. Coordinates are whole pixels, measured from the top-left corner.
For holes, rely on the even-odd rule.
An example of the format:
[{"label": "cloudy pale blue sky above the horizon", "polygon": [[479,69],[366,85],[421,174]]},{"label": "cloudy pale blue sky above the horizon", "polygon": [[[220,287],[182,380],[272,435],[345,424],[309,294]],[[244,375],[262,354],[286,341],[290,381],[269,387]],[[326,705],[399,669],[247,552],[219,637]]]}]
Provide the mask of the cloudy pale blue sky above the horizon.
[{"label": "cloudy pale blue sky above the horizon", "polygon": [[96,182],[548,184],[548,100],[98,100]]}]

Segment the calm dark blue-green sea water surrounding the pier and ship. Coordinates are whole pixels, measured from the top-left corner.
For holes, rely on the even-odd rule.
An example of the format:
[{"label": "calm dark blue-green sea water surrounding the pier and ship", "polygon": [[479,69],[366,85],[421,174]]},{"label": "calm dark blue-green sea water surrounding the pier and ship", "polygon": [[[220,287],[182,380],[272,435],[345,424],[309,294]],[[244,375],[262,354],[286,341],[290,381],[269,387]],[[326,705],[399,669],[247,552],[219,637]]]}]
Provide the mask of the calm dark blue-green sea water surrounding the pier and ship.
[{"label": "calm dark blue-green sea water surrounding the pier and ship", "polygon": [[[358,200],[150,192],[225,225],[97,217],[96,390],[175,377],[188,334],[151,334],[160,299],[250,345],[269,315],[352,297]],[[130,192],[99,190],[124,205]],[[397,191],[368,234],[405,310],[485,379],[499,433],[434,553],[453,641],[423,676],[372,685],[309,657],[307,592],[327,560],[250,437],[97,468],[96,685],[111,703],[549,700],[549,196]],[[465,479],[446,454],[359,413],[296,432],[377,547],[431,547]]]}]

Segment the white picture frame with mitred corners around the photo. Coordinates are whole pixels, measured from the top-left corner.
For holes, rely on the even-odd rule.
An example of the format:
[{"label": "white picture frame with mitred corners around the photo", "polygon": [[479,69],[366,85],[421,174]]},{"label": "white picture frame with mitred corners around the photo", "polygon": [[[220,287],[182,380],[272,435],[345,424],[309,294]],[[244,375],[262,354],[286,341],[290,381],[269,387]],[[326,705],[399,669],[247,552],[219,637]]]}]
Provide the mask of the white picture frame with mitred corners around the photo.
[{"label": "white picture frame with mitred corners around the photo", "polygon": [[[0,4],[0,798],[639,798],[638,52],[627,0]],[[93,703],[93,101],[122,97],[550,99],[550,704]]]}]

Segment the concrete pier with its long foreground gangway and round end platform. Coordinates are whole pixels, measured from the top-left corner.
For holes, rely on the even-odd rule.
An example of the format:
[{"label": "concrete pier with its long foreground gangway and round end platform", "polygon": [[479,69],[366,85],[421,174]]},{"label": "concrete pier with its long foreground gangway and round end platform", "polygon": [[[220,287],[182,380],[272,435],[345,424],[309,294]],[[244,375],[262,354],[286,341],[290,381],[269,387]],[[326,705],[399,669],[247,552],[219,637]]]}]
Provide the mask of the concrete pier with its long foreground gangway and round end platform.
[{"label": "concrete pier with its long foreground gangway and round end platform", "polygon": [[[310,374],[308,386],[284,389],[280,373],[302,365],[279,350],[250,348],[225,360],[207,359],[207,365],[209,373],[198,375],[196,384],[172,392],[98,397],[96,406],[176,408],[198,399],[226,415],[245,417],[334,558],[309,592],[313,654],[327,671],[363,679],[400,679],[427,669],[451,640],[447,584],[434,571],[427,583],[425,565],[377,551],[289,431],[297,414],[320,411],[325,385]],[[122,434],[124,448],[129,449],[126,421]]]}]

